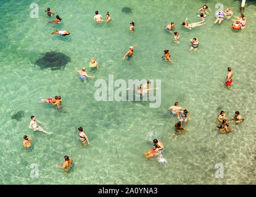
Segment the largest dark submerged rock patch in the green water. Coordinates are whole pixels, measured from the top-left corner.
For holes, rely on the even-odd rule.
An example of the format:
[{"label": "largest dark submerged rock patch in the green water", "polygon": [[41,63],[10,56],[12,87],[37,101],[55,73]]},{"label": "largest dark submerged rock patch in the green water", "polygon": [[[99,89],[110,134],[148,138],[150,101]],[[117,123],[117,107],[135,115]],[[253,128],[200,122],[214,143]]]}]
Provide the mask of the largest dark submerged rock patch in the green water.
[{"label": "largest dark submerged rock patch in the green water", "polygon": [[61,70],[65,68],[67,63],[70,62],[70,57],[60,52],[46,52],[44,57],[36,60],[35,65],[40,66],[41,69],[51,68],[51,70]]}]

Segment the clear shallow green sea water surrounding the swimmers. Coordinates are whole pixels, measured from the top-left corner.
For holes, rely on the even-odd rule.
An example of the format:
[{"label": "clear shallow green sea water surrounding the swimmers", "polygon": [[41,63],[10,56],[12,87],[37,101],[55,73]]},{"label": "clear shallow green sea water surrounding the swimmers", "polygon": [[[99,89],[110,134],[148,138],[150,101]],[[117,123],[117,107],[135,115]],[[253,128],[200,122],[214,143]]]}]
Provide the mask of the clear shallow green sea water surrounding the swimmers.
[{"label": "clear shallow green sea water surrounding the swimmers", "polygon": [[[0,182],[2,184],[248,184],[255,174],[255,2],[247,1],[244,31],[235,32],[231,21],[213,25],[215,4],[207,16],[207,25],[185,30],[180,24],[198,22],[197,10],[205,1],[38,1],[39,18],[30,18],[27,1],[1,1],[0,28]],[[225,1],[239,14],[240,1]],[[51,7],[63,18],[61,25],[45,24],[44,10]],[[131,7],[130,15],[122,13]],[[94,11],[110,24],[95,24]],[[128,31],[129,22],[135,31]],[[175,22],[180,44],[163,27]],[[70,36],[49,35],[62,29]],[[197,52],[189,52],[189,39],[199,38]],[[130,45],[137,44],[133,58],[122,60]],[[174,64],[165,63],[163,50],[170,49]],[[48,51],[59,51],[71,58],[64,70],[35,66]],[[99,70],[88,84],[80,81],[75,66],[87,66],[94,57]],[[226,67],[231,65],[234,79],[226,89]],[[161,79],[162,105],[149,108],[149,102],[96,102],[97,79]],[[56,111],[41,98],[62,95],[65,113]],[[176,141],[169,139],[178,119],[168,113],[175,101],[187,107],[191,121]],[[21,121],[11,119],[25,111]],[[246,121],[230,124],[235,131],[221,135],[215,129],[220,110],[228,117],[239,110]],[[28,129],[30,116],[46,124],[54,135]],[[83,148],[77,128],[82,126],[91,145]],[[143,153],[152,144],[149,132],[157,132],[166,146],[167,166],[147,161]],[[33,148],[22,147],[23,135],[29,135]],[[75,166],[65,175],[55,165],[64,155]],[[31,179],[30,164],[39,165],[39,178]],[[215,164],[225,166],[224,179],[215,178]],[[153,179],[154,175],[154,179]]]}]

